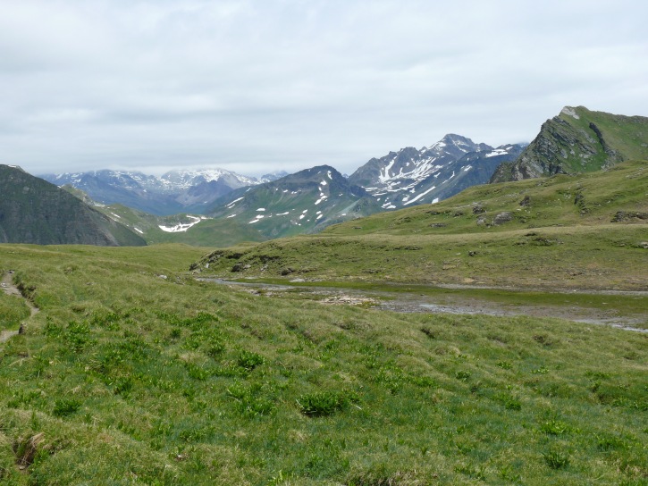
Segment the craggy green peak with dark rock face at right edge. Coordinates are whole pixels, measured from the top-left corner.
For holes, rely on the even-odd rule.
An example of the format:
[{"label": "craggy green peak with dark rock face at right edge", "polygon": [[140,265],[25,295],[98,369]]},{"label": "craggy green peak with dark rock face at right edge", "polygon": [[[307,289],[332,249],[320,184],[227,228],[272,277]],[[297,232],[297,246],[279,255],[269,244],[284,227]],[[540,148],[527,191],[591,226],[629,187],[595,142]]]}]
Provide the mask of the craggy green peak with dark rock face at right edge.
[{"label": "craggy green peak with dark rock face at right edge", "polygon": [[599,171],[633,158],[648,158],[648,118],[566,106],[543,123],[518,160],[495,171],[491,182]]}]

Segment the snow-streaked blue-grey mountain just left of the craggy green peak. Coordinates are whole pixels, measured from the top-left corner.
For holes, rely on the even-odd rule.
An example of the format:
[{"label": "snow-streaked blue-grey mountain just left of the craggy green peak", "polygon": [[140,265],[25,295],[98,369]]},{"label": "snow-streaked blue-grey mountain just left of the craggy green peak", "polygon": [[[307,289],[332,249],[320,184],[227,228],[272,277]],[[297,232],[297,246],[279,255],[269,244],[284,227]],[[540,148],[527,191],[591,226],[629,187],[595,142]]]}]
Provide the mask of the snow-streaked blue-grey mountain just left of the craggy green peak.
[{"label": "snow-streaked blue-grey mountain just left of the craggy green peak", "polygon": [[524,146],[497,148],[448,134],[431,147],[414,147],[373,158],[349,176],[383,210],[435,203],[475,184],[485,184],[502,162],[514,160]]}]

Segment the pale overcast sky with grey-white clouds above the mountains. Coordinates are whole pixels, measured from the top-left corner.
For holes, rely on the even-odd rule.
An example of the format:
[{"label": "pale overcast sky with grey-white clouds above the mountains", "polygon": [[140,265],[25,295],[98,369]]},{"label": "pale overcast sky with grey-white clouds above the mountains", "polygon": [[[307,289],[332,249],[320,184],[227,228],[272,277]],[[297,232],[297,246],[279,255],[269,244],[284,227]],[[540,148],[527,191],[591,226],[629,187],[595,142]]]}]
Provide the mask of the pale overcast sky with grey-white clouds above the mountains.
[{"label": "pale overcast sky with grey-white clouds above the mountains", "polygon": [[0,0],[0,163],[329,164],[648,116],[644,0]]}]

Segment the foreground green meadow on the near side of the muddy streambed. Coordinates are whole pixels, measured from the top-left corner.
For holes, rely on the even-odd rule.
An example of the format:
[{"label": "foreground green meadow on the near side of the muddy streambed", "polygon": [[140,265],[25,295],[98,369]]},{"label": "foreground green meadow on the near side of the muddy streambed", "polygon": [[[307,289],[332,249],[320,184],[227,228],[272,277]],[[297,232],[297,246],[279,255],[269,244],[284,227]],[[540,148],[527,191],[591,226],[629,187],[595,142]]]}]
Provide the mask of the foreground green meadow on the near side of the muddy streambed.
[{"label": "foreground green meadow on the near side of the muddy streambed", "polygon": [[200,253],[0,247],[40,307],[0,345],[0,482],[645,484],[644,334],[270,300]]}]

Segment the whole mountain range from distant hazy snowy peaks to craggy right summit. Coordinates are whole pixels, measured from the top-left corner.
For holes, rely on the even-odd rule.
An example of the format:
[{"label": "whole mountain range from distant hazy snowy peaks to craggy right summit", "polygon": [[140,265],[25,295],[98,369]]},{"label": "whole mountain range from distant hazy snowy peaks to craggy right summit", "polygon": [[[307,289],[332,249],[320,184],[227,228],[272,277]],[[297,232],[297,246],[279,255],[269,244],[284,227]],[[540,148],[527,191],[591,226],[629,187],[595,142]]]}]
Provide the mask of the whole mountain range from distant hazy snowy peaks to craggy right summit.
[{"label": "whole mountain range from distant hazy snowy peaks to craggy right summit", "polygon": [[261,178],[223,169],[46,174],[149,243],[230,246],[312,233],[374,213],[437,203],[469,187],[592,172],[648,158],[648,119],[569,107],[528,146],[448,134],[429,147],[374,157],[349,177],[329,165]]}]

